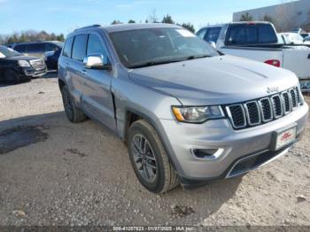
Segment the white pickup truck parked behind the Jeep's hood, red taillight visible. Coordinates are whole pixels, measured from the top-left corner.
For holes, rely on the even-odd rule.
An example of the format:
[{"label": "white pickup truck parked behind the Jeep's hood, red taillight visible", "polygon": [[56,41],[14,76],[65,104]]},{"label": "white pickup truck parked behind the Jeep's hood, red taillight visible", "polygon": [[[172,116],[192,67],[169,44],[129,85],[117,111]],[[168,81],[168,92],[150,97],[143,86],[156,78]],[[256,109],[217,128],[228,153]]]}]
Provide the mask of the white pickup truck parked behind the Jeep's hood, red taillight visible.
[{"label": "white pickup truck parked behind the Jeep's hood, red taillight visible", "polygon": [[251,58],[283,67],[300,79],[310,78],[310,48],[279,44],[273,24],[268,22],[235,22],[203,27],[197,35],[224,54]]}]

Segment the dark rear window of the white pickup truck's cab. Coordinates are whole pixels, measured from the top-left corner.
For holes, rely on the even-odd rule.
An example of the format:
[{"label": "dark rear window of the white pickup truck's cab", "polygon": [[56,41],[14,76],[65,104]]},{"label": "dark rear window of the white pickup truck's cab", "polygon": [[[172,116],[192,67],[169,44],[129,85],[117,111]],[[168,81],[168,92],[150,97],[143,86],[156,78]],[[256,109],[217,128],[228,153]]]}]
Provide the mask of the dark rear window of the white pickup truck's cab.
[{"label": "dark rear window of the white pickup truck's cab", "polygon": [[226,40],[228,45],[277,43],[275,29],[270,24],[232,25]]}]

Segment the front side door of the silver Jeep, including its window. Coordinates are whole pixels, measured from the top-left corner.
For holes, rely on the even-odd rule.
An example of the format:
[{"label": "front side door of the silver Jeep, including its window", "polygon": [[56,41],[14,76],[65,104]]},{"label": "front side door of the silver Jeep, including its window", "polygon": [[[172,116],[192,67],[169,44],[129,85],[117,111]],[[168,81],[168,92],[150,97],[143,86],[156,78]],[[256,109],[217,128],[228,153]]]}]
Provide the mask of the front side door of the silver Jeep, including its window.
[{"label": "front side door of the silver Jeep, including its window", "polygon": [[[102,54],[109,62],[105,41],[102,35],[89,34],[87,55]],[[112,130],[116,129],[111,92],[112,72],[100,69],[83,68],[83,108],[94,118]]]}]

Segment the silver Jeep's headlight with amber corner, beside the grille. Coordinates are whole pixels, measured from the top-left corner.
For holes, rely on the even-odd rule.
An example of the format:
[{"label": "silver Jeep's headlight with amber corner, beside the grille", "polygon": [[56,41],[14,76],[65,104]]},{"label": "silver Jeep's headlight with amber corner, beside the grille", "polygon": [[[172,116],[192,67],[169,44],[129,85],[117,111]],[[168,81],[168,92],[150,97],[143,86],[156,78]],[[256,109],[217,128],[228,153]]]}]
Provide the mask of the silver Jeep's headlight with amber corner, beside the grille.
[{"label": "silver Jeep's headlight with amber corner, beside the grille", "polygon": [[177,120],[190,123],[202,123],[206,120],[225,118],[221,106],[172,106],[172,111]]}]

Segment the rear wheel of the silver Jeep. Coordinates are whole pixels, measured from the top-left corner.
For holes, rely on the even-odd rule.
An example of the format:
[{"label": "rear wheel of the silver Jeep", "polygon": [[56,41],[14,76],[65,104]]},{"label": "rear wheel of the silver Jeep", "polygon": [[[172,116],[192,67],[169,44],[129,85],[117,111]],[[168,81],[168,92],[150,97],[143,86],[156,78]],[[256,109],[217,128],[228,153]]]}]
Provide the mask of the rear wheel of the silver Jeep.
[{"label": "rear wheel of the silver Jeep", "polygon": [[87,119],[86,115],[74,103],[74,99],[66,85],[61,89],[61,95],[68,120],[77,123]]}]

